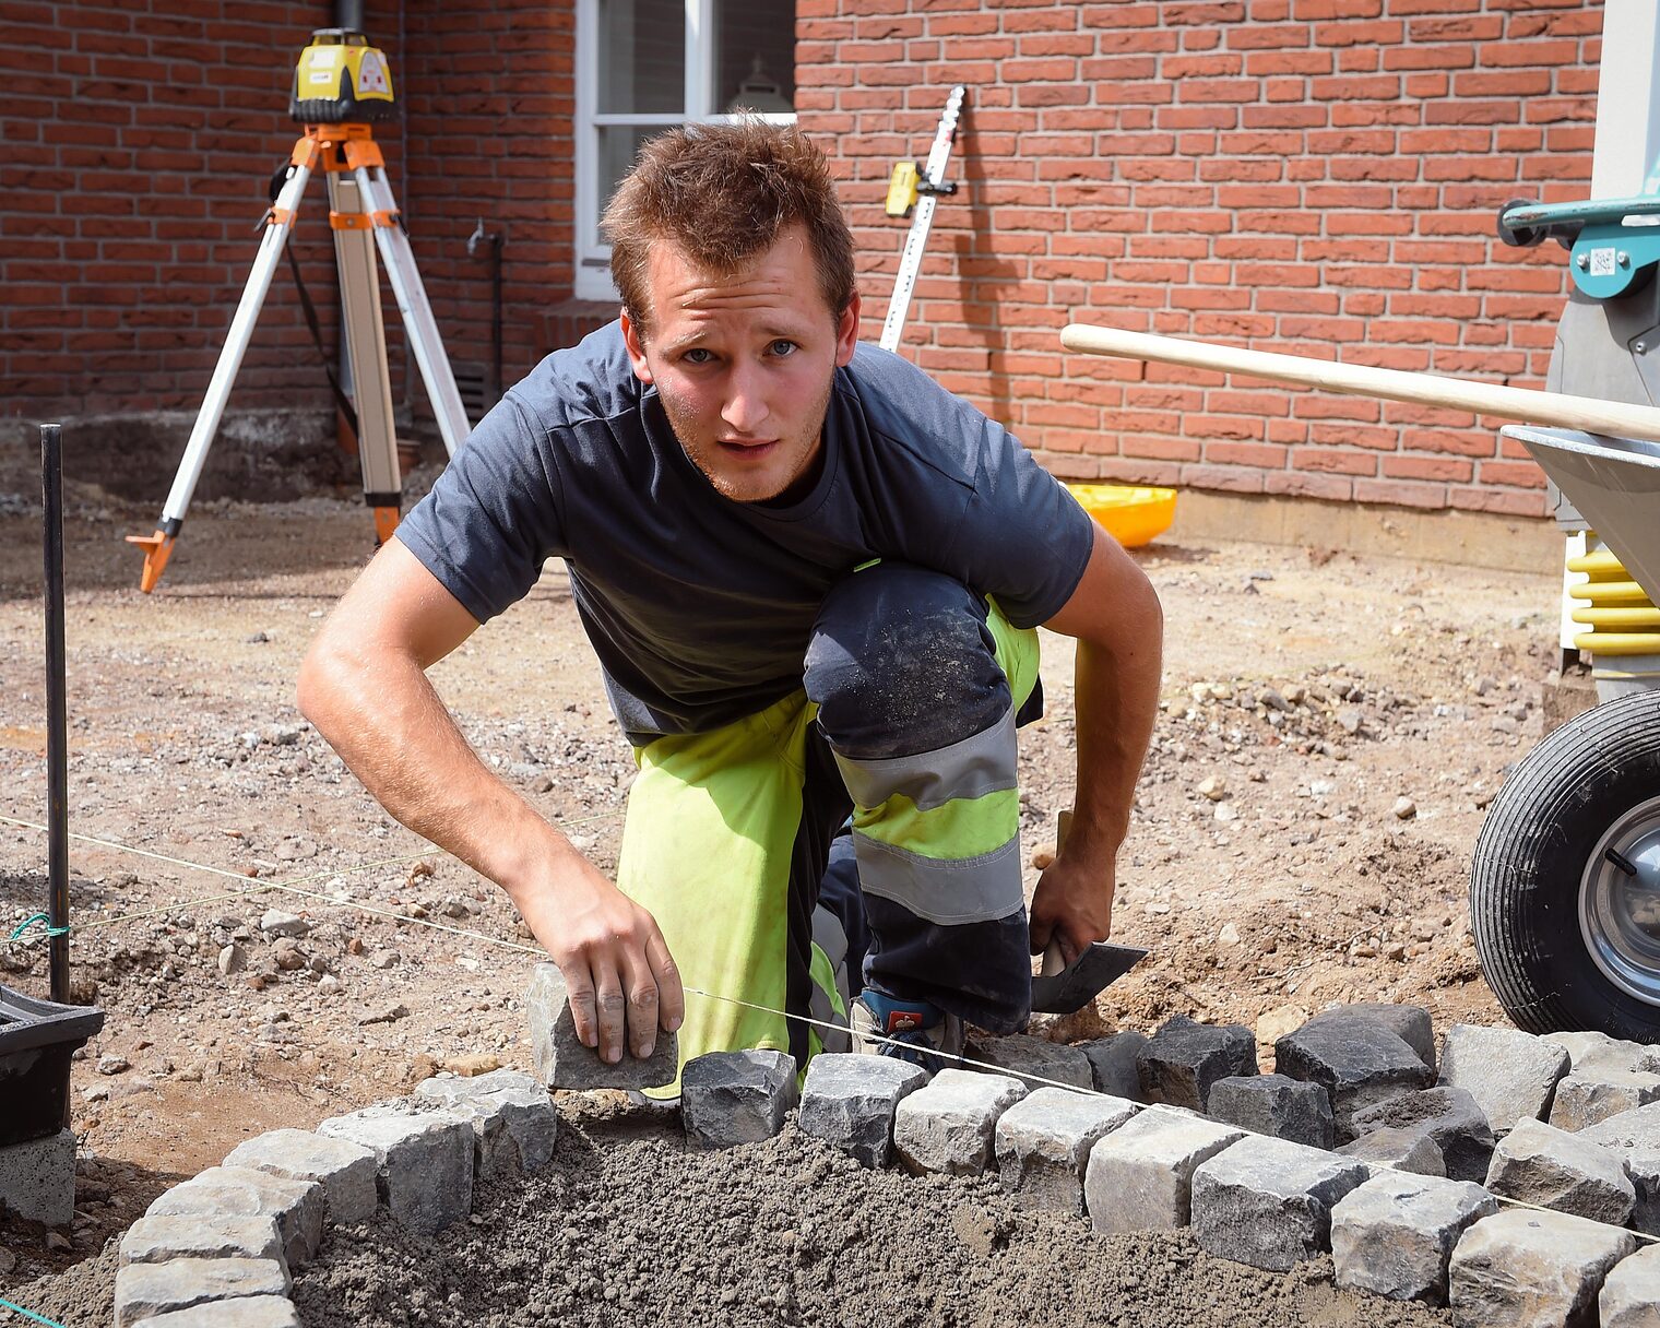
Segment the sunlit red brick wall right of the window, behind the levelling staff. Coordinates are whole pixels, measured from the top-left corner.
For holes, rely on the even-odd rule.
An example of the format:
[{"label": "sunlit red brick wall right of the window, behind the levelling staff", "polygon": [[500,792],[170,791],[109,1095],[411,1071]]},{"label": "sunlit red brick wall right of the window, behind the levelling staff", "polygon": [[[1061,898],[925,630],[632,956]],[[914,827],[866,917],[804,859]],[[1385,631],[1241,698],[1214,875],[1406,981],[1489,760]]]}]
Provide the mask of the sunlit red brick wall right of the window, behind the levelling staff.
[{"label": "sunlit red brick wall right of the window, behind the levelling staff", "polygon": [[798,106],[833,144],[880,332],[898,158],[969,113],[905,354],[1069,478],[1544,511],[1497,423],[1062,355],[1079,319],[1542,385],[1554,244],[1494,211],[1582,198],[1594,0],[800,0]]}]

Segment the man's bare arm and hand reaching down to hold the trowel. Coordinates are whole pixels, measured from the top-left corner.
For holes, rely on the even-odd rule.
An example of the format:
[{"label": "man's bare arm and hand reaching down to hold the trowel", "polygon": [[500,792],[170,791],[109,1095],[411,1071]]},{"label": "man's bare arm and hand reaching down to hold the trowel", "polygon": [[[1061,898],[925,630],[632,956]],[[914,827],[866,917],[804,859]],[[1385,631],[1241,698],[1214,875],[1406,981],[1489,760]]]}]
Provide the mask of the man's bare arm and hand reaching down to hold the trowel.
[{"label": "man's bare arm and hand reaching down to hold the trowel", "polygon": [[1147,574],[1099,526],[1072,598],[1046,622],[1077,637],[1072,828],[1033,896],[1033,950],[1071,963],[1112,931],[1117,853],[1159,712],[1164,611]]}]

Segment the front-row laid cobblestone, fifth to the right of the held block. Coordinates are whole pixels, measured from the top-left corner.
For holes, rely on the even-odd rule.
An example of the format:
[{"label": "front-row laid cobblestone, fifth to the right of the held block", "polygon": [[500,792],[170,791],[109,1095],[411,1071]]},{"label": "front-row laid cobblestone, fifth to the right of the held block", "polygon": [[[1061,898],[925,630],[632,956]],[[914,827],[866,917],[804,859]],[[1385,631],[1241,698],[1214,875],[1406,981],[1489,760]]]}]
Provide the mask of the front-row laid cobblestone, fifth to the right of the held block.
[{"label": "front-row laid cobblestone, fifth to the right of the held block", "polygon": [[1084,1207],[1102,1235],[1174,1232],[1192,1213],[1194,1170],[1245,1135],[1174,1107],[1147,1107],[1089,1150]]}]

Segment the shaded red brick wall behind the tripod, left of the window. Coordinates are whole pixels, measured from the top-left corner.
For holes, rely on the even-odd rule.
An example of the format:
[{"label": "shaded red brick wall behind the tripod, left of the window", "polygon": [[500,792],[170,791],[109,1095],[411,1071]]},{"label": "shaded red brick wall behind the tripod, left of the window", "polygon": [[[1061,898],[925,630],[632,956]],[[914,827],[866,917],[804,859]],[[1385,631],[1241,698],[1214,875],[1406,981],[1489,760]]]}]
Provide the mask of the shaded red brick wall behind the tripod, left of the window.
[{"label": "shaded red brick wall behind the tripod, left of the window", "polygon": [[[571,286],[573,12],[525,0],[369,5],[369,35],[392,60],[405,116],[377,138],[458,362],[490,357],[488,246],[468,256],[466,237],[480,217],[506,234],[510,383],[544,350],[543,314]],[[267,181],[299,134],[287,118],[294,61],[329,22],[327,3],[0,0],[8,415],[201,403],[259,244]],[[292,246],[332,349],[320,179]],[[382,300],[403,400],[390,289]],[[427,413],[418,385],[410,398]],[[282,407],[330,408],[286,264],[231,397],[232,410]]]}]

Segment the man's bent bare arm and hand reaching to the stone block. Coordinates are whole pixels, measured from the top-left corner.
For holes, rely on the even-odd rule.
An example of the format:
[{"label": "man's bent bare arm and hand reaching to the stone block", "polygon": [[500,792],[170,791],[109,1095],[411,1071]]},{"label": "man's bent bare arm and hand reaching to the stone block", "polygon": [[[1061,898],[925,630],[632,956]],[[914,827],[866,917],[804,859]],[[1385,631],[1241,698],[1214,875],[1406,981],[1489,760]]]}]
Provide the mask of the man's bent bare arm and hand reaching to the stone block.
[{"label": "man's bent bare arm and hand reaching to the stone block", "polygon": [[564,974],[578,1036],[649,1056],[684,1011],[651,915],[473,752],[427,669],[478,629],[397,540],[364,569],[300,666],[299,704],[393,817],[496,881]]}]

